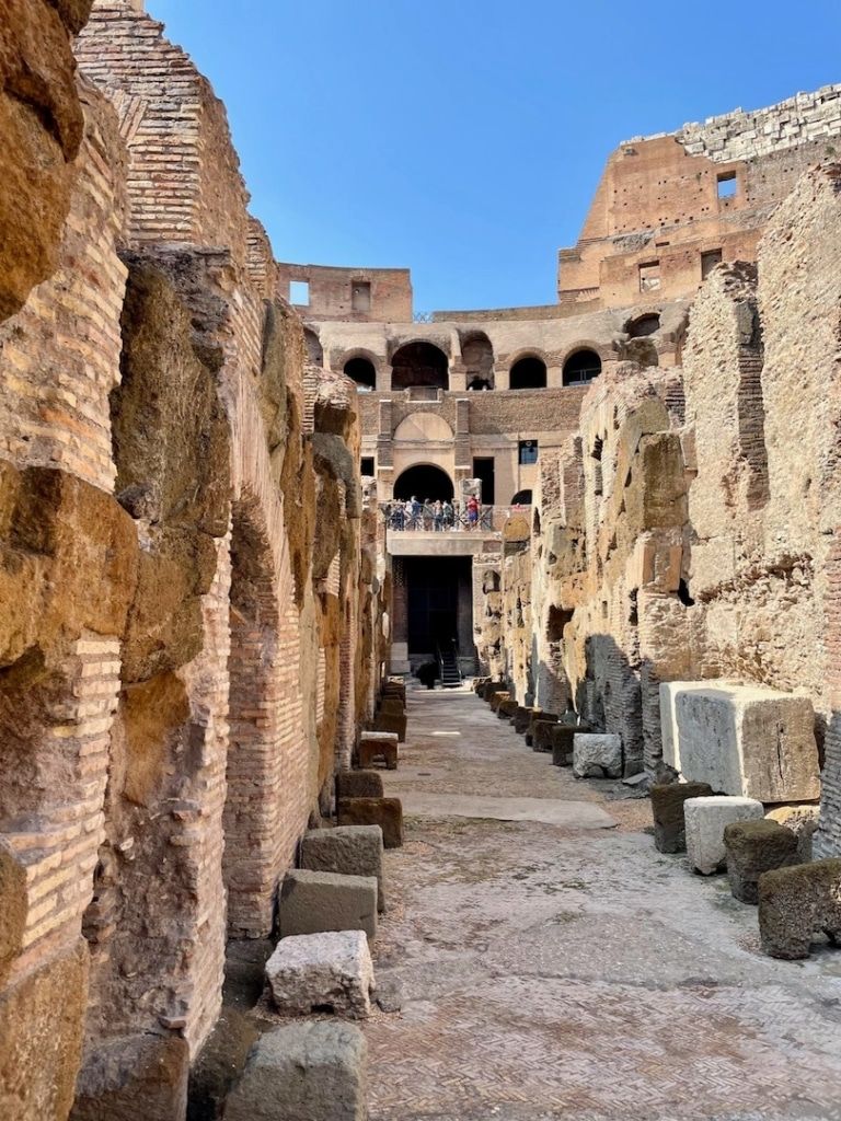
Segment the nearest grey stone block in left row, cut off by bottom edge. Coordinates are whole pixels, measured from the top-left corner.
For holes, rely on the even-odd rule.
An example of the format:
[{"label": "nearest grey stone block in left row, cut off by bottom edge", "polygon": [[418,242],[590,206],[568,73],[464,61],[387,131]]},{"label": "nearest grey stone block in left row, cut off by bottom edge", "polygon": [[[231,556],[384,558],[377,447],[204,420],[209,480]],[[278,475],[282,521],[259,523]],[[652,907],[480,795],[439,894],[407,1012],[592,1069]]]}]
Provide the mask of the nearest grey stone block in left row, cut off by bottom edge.
[{"label": "nearest grey stone block in left row, cut off by bottom edge", "polygon": [[367,1048],[353,1023],[304,1020],[255,1044],[225,1121],[366,1121]]}]

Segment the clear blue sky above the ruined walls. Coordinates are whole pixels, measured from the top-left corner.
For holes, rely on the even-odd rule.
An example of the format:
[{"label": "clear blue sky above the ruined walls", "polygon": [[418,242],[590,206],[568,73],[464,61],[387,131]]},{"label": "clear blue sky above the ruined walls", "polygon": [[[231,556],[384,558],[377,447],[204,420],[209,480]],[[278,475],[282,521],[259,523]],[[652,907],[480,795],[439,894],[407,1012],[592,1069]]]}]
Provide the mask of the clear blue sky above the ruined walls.
[{"label": "clear blue sky above the ruined walls", "polygon": [[415,307],[553,303],[629,136],[841,81],[841,2],[147,0],[227,102],[280,260]]}]

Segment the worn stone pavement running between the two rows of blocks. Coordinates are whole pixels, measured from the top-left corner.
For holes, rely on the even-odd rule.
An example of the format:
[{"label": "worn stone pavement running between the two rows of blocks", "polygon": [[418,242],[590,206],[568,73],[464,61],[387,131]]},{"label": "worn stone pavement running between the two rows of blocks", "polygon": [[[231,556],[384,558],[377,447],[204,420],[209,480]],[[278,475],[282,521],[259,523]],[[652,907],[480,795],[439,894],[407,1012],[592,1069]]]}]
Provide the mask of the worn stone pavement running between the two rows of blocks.
[{"label": "worn stone pavement running between the two rows of blocks", "polygon": [[765,957],[726,877],[655,851],[647,800],[576,782],[472,694],[408,707],[389,795],[583,802],[618,824],[432,797],[408,817],[386,854],[377,984],[401,1008],[366,1027],[370,1121],[841,1119],[840,952]]}]

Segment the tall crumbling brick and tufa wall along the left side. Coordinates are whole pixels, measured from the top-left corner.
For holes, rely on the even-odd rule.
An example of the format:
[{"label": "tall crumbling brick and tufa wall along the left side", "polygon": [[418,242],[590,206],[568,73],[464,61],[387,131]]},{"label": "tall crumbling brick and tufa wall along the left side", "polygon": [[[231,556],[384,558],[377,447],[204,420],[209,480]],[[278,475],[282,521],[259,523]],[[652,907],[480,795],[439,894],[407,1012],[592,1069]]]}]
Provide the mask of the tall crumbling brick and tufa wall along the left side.
[{"label": "tall crumbling brick and tufa wall along the left side", "polygon": [[3,207],[41,145],[37,252],[0,308],[10,1121],[64,1121],[74,1083],[78,1121],[105,1101],[135,1117],[150,1071],[160,1115],[183,1115],[225,941],[270,932],[383,670],[355,390],[318,387],[307,420],[302,324],[275,296],[224,110],[160,25],[96,4],[73,89],[59,15],[75,31],[85,7],[37,13],[53,70],[0,33],[21,53],[3,65],[39,73],[39,112],[61,118],[52,140],[30,128],[0,187],[11,243]]}]

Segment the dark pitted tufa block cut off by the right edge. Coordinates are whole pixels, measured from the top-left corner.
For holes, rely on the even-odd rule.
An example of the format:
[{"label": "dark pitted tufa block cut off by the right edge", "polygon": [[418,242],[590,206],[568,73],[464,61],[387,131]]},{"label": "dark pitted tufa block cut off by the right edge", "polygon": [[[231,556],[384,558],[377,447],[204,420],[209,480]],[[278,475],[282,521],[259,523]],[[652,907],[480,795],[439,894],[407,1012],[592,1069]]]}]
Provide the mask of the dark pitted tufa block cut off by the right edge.
[{"label": "dark pitted tufa block cut off by the right edge", "polygon": [[759,937],[770,957],[808,957],[819,932],[841,944],[841,859],[764,872],[758,896]]}]

